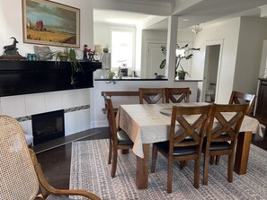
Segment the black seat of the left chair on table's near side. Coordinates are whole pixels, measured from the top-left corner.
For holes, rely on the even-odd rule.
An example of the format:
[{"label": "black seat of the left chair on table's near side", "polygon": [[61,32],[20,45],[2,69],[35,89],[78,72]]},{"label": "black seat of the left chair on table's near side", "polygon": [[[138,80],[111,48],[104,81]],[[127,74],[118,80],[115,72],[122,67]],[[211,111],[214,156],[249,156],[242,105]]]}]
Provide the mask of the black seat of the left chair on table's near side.
[{"label": "black seat of the left chair on table's near side", "polygon": [[[169,141],[155,143],[158,149],[163,150],[165,153],[169,153]],[[182,146],[174,147],[174,156],[191,155],[197,152],[197,146]]]}]

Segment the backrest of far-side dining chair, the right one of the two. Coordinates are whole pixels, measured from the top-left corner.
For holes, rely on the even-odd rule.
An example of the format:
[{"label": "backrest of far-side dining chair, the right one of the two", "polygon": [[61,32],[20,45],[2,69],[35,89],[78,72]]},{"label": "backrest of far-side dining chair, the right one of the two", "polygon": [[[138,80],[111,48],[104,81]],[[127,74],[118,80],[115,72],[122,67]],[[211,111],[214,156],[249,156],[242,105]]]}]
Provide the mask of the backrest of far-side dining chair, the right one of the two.
[{"label": "backrest of far-side dining chair, the right one of the two", "polygon": [[182,101],[188,103],[190,101],[190,88],[166,88],[165,102],[181,103]]}]

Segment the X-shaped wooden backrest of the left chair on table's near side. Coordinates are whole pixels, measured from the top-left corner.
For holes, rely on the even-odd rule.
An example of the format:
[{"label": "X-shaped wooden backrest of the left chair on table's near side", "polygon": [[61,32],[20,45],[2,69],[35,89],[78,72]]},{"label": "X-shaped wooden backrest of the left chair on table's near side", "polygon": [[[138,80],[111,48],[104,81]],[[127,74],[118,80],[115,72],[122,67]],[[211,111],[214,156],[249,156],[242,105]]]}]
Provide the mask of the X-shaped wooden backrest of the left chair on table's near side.
[{"label": "X-shaped wooden backrest of the left chair on table's near side", "polygon": [[[173,107],[170,128],[170,151],[174,146],[196,146],[197,154],[201,153],[203,138],[208,126],[211,105],[194,107]],[[179,123],[179,128],[177,127]]]}]

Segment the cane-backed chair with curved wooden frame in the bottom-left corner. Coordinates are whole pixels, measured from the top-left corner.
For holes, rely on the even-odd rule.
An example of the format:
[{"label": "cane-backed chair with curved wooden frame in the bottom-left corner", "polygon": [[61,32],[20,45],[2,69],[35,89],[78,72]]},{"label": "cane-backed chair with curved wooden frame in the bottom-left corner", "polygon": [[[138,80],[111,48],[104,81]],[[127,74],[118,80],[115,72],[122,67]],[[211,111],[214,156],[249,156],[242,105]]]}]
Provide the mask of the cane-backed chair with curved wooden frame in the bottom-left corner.
[{"label": "cane-backed chair with curved wooden frame in the bottom-left corner", "polygon": [[58,190],[44,178],[35,153],[28,148],[20,124],[0,116],[0,199],[69,199],[85,196],[100,199],[85,190]]}]

